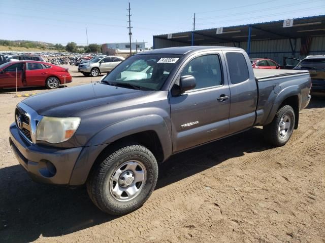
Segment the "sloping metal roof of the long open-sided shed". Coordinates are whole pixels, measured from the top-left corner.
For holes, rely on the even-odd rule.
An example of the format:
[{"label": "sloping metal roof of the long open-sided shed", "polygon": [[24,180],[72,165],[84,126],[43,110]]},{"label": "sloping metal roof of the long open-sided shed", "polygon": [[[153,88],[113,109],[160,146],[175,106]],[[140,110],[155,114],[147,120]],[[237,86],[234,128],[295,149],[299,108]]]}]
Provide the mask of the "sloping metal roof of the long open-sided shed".
[{"label": "sloping metal roof of the long open-sided shed", "polygon": [[[298,38],[304,36],[325,36],[325,15],[294,19],[293,27],[283,28],[283,20],[194,31],[194,45],[209,45],[227,42],[243,42],[248,39],[251,26],[251,41],[263,39]],[[221,27],[221,26],[220,26]],[[172,33],[171,41],[191,44],[192,31]],[[168,39],[168,34],[154,35],[154,38]]]}]

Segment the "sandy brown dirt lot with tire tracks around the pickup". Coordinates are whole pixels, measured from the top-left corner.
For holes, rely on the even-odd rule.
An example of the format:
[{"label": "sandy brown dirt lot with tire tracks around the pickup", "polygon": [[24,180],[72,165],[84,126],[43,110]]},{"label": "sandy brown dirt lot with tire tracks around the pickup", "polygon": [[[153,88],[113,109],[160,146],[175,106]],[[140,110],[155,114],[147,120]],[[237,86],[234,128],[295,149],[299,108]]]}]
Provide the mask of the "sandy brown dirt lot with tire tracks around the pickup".
[{"label": "sandy brown dirt lot with tire tracks around the pickup", "polygon": [[[90,82],[69,67],[68,86]],[[0,242],[325,242],[325,97],[301,111],[286,146],[270,147],[254,128],[177,154],[140,210],[112,217],[84,187],[29,179],[8,142],[23,100],[14,93],[0,93]]]}]

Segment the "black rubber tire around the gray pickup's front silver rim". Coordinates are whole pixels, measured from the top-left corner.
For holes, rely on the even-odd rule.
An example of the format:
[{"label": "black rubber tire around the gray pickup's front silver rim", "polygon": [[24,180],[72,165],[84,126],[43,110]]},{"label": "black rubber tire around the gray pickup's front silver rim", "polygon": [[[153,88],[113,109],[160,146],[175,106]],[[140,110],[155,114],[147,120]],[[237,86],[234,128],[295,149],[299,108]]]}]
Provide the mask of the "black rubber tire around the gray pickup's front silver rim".
[{"label": "black rubber tire around the gray pickup's front silver rim", "polygon": [[[125,163],[132,163],[130,161],[140,162],[146,176],[137,192],[139,194],[129,197],[127,201],[120,201],[121,199],[111,190],[114,187],[113,178],[119,178],[118,182],[115,182],[115,186],[119,188],[118,190],[120,188],[124,190],[125,188],[122,188],[119,182],[123,178],[123,173],[127,173],[129,170],[126,170],[127,167],[123,170],[121,168]],[[119,172],[122,174],[116,174]],[[112,215],[124,215],[139,209],[145,203],[154,190],[157,178],[158,165],[151,151],[139,144],[128,144],[111,149],[100,156],[99,161],[96,161],[89,174],[86,185],[89,197],[100,210]],[[136,184],[132,181],[128,187],[134,188]],[[128,196],[128,193],[126,195]]]}]

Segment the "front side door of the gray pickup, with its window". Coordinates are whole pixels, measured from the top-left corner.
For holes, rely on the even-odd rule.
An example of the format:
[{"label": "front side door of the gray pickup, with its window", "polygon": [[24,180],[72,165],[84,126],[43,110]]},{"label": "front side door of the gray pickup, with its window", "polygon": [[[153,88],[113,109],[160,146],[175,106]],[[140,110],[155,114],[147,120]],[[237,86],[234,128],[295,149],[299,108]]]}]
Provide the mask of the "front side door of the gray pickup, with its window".
[{"label": "front side door of the gray pickup, with its window", "polygon": [[189,60],[180,76],[194,76],[196,88],[178,96],[170,92],[173,152],[229,133],[230,88],[227,76],[223,75],[225,63],[220,57],[215,53]]}]

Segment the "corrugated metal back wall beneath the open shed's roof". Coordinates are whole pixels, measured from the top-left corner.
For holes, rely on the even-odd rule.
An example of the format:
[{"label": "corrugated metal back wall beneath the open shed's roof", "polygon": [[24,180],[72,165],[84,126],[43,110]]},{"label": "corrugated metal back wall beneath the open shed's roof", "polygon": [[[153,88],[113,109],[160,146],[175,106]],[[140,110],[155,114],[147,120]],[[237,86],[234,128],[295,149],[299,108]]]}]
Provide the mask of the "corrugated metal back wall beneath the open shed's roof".
[{"label": "corrugated metal back wall beneath the open shed's roof", "polygon": [[[289,39],[267,39],[261,41],[252,41],[250,43],[250,57],[251,58],[259,58],[259,57],[267,57],[275,60],[279,64],[282,64],[282,57],[295,57],[298,59],[303,59],[306,56],[300,55],[300,44],[301,38],[296,39],[296,47],[295,40],[291,39],[291,43],[295,48],[294,55],[292,54]],[[154,47],[158,48],[166,48],[166,47],[180,47],[180,46],[190,46],[183,43],[171,41],[169,39],[159,39],[154,38]],[[211,46],[207,45],[207,46]],[[220,43],[215,44],[213,46],[224,46],[224,47],[234,47],[234,43]],[[236,43],[236,47],[238,47],[238,43]],[[247,42],[241,42],[240,48],[247,50]],[[313,36],[312,41],[309,48],[309,55],[323,55],[325,54],[325,36]]]}]

